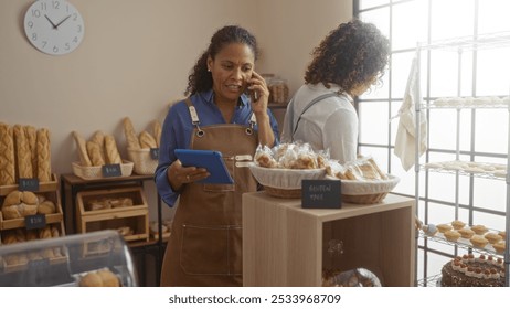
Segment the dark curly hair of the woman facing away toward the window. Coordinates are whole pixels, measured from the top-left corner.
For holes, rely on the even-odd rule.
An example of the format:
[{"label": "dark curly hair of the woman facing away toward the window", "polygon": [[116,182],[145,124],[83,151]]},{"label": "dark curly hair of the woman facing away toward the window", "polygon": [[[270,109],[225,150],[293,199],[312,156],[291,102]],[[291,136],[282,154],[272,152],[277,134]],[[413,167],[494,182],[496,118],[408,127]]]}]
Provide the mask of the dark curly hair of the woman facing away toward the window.
[{"label": "dark curly hair of the woman facing away toward the window", "polygon": [[340,86],[350,93],[381,77],[389,61],[390,43],[372,23],[352,20],[332,30],[315,47],[314,60],[305,73],[307,84]]}]

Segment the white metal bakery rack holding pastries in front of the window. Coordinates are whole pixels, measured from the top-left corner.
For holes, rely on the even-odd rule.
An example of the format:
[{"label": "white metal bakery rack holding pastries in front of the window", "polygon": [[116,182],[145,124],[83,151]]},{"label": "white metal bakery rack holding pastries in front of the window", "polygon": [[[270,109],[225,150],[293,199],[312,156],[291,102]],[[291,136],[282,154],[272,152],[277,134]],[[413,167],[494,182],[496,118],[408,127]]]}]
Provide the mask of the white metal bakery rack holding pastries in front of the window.
[{"label": "white metal bakery rack holding pastries in front of the window", "polygon": [[[479,34],[477,38],[474,36],[464,36],[464,38],[454,38],[449,40],[443,40],[432,43],[418,43],[416,47],[416,61],[417,61],[417,68],[418,68],[418,79],[417,85],[421,85],[421,57],[422,52],[431,53],[433,50],[442,50],[442,51],[450,51],[458,53],[458,70],[457,70],[457,79],[461,81],[461,76],[464,75],[463,72],[463,54],[465,52],[474,52],[477,53],[478,51],[482,50],[493,50],[493,49],[502,49],[510,46],[510,31],[506,32],[498,32],[498,33],[487,33],[487,34]],[[508,70],[507,70],[508,72]],[[416,202],[416,215],[419,215],[419,172],[424,171],[428,172],[446,172],[455,174],[455,220],[458,219],[459,212],[459,178],[460,177],[470,177],[471,183],[474,178],[486,178],[486,179],[495,179],[495,180],[504,180],[506,181],[506,231],[510,232],[510,84],[509,84],[509,93],[507,94],[497,94],[495,96],[485,96],[479,97],[474,94],[471,97],[461,97],[461,83],[458,83],[457,86],[457,97],[445,97],[445,98],[436,98],[432,99],[428,98],[427,104],[416,104],[415,105],[415,124],[419,124],[422,119],[421,113],[426,113],[431,109],[455,109],[456,110],[456,145],[455,145],[455,161],[449,162],[425,162],[421,164],[419,161],[419,140],[417,139],[415,142],[415,202]],[[425,100],[424,100],[425,102]],[[486,167],[491,166],[491,163],[485,162],[475,162],[472,161],[461,161],[460,160],[460,114],[463,110],[471,110],[475,111],[476,109],[484,109],[484,108],[497,108],[501,110],[508,111],[508,151],[506,156],[506,164],[498,166],[495,169],[484,169]],[[421,126],[415,126],[415,136],[421,136]],[[474,159],[472,153],[470,158]],[[428,160],[428,156],[426,156]],[[445,164],[445,163],[450,163]],[[454,164],[451,164],[454,163]],[[464,168],[463,168],[464,164]],[[475,169],[479,168],[479,169]],[[472,169],[471,169],[472,168]],[[470,209],[469,213],[469,221],[468,224],[472,222],[472,209]],[[423,234],[422,234],[423,235]],[[416,237],[419,237],[417,234]],[[435,242],[443,242],[445,244],[454,245],[455,252],[457,252],[458,247],[464,247],[469,251],[477,251],[476,248],[471,247],[469,244],[463,243],[451,243],[440,237],[429,237],[426,236],[426,239],[435,241]],[[417,242],[417,239],[416,239]],[[504,263],[506,263],[506,286],[509,286],[509,270],[510,270],[510,234],[507,233],[506,236],[506,251],[503,254]],[[426,246],[426,243],[425,243]],[[489,251],[489,253],[493,254],[493,252]],[[416,260],[418,255],[418,246],[416,246]],[[426,267],[426,266],[425,266]],[[417,269],[416,269],[417,273]],[[429,280],[436,281],[437,278],[424,278],[422,281],[428,283]],[[431,283],[432,283],[431,281]],[[416,285],[419,285],[417,281]],[[432,286],[435,286],[432,284]]]}]

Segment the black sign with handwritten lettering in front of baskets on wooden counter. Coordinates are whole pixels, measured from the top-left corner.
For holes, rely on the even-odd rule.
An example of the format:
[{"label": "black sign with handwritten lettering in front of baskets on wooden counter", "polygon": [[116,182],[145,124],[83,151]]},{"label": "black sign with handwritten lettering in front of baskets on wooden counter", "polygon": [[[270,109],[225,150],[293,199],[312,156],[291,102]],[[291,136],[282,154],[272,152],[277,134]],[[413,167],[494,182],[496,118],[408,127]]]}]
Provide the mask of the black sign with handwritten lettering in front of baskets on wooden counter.
[{"label": "black sign with handwritten lettering in front of baskets on wooden counter", "polygon": [[304,209],[341,209],[341,183],[337,180],[302,180]]}]

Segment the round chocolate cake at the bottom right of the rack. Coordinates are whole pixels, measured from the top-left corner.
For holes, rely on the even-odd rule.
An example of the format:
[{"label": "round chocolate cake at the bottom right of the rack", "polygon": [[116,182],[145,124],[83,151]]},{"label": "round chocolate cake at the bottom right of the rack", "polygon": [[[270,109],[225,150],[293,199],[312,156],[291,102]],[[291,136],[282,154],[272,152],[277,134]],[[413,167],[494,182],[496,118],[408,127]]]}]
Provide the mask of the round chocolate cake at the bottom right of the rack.
[{"label": "round chocolate cake at the bottom right of the rack", "polygon": [[472,254],[455,257],[443,266],[442,287],[503,287],[504,264],[501,258]]}]

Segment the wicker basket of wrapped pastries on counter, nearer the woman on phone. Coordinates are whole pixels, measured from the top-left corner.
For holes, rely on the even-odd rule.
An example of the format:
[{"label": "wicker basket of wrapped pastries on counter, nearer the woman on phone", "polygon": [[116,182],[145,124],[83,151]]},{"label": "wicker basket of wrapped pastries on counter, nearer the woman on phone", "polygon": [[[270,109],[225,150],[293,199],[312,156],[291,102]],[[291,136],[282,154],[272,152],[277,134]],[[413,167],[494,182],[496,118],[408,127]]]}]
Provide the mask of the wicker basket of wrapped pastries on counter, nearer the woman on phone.
[{"label": "wicker basket of wrapped pastries on counter, nearer the woman on phone", "polygon": [[267,194],[298,199],[302,180],[325,178],[326,161],[327,156],[312,151],[308,143],[259,146],[249,169]]}]

